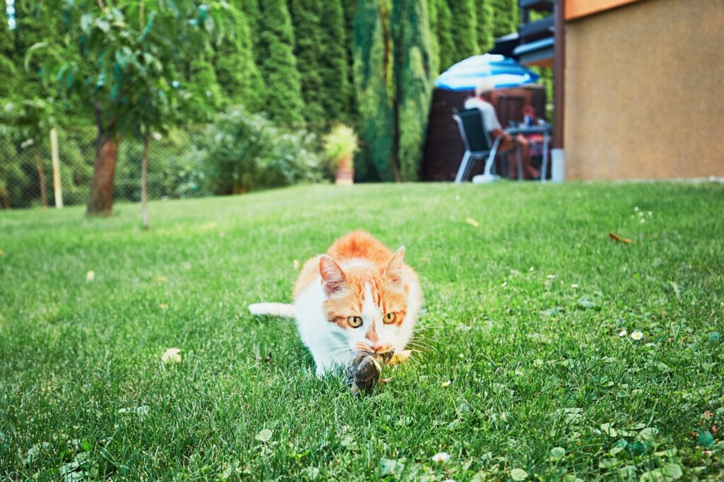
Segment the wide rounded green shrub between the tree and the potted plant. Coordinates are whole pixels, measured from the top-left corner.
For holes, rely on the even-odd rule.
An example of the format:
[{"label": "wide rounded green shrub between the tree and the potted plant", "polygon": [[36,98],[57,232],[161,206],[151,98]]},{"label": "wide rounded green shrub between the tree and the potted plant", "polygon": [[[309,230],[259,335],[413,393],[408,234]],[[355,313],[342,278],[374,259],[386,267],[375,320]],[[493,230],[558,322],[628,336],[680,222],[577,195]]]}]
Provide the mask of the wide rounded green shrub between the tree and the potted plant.
[{"label": "wide rounded green shrub between the tree and the potted plant", "polygon": [[321,179],[315,135],[288,132],[261,114],[234,107],[219,117],[209,135],[206,178],[216,194],[239,194]]}]

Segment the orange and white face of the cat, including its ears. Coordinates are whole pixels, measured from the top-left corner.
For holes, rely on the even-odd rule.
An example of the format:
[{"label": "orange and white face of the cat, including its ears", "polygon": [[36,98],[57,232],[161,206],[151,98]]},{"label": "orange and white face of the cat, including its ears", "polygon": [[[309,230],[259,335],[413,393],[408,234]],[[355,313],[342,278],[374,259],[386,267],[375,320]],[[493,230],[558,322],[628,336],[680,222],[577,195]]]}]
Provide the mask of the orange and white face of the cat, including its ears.
[{"label": "orange and white face of the cat, including its ears", "polygon": [[355,266],[345,271],[329,256],[321,257],[319,271],[328,297],[324,313],[340,328],[335,332],[350,350],[392,350],[407,314],[404,255],[404,248],[397,250],[384,269]]}]

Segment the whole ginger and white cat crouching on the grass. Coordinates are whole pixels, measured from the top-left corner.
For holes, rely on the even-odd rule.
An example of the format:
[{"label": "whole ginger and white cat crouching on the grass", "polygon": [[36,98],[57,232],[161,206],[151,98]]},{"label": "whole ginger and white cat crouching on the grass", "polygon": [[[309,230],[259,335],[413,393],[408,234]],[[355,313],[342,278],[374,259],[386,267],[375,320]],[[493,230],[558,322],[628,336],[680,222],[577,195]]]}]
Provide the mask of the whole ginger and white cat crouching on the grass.
[{"label": "whole ginger and white cat crouching on the grass", "polygon": [[341,237],[306,263],[294,304],[257,303],[256,315],[294,317],[318,376],[345,365],[352,352],[399,352],[412,336],[421,305],[417,274],[371,234]]}]

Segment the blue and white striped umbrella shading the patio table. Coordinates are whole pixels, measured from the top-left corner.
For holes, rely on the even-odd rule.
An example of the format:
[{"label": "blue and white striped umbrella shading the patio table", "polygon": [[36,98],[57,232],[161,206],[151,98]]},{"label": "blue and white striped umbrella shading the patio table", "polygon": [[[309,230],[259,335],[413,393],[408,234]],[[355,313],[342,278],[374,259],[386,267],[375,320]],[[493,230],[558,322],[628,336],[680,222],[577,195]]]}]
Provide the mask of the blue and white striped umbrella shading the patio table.
[{"label": "blue and white striped umbrella shading the patio table", "polygon": [[540,76],[513,59],[484,54],[468,57],[442,72],[435,87],[447,90],[473,90],[481,80],[489,78],[495,88],[517,87],[536,82]]}]

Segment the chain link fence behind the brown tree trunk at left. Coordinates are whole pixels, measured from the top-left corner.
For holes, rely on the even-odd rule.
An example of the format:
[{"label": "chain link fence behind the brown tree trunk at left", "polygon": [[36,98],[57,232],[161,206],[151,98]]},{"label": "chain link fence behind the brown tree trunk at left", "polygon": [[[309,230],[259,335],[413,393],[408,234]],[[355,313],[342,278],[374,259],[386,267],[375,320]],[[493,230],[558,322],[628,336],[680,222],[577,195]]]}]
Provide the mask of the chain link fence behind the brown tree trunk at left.
[{"label": "chain link fence behind the brown tree trunk at left", "polygon": [[[96,156],[94,127],[59,127],[59,185],[64,206],[88,201]],[[199,182],[205,125],[155,135],[148,145],[148,198],[186,198],[209,195]],[[124,139],[119,145],[114,200],[140,200],[142,143]],[[50,134],[15,143],[0,138],[0,208],[56,206]]]}]

